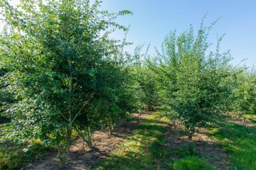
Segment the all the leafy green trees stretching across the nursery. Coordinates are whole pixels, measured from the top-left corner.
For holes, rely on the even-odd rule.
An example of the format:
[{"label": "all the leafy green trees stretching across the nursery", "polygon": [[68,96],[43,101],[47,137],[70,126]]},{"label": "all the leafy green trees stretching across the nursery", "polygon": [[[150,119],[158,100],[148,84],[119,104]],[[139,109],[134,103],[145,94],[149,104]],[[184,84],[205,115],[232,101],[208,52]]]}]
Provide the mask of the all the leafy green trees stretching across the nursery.
[{"label": "all the leafy green trees stretching across the nursery", "polygon": [[[100,1],[1,1],[6,26],[0,34],[1,112],[13,129],[5,138],[40,138],[58,149],[60,167],[72,132],[92,144],[92,131],[126,112],[162,108],[178,118],[190,138],[222,112],[255,113],[255,72],[233,67],[229,52],[209,52],[209,27],[170,32],[155,56],[124,52],[114,40],[115,22],[130,11],[99,10]],[[149,48],[149,47],[148,47]]]}]

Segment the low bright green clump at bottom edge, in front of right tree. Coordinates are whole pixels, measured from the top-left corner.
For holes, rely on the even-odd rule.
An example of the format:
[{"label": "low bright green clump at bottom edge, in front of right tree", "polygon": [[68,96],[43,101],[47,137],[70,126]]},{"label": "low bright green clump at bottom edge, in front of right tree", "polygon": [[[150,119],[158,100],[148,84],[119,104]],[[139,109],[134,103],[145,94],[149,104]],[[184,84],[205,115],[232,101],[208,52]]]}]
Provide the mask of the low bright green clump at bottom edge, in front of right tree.
[{"label": "low bright green clump at bottom edge, in front of right tree", "polygon": [[176,170],[210,170],[215,169],[214,167],[210,167],[198,157],[186,157],[185,159],[180,159],[176,161],[173,165],[173,168]]}]

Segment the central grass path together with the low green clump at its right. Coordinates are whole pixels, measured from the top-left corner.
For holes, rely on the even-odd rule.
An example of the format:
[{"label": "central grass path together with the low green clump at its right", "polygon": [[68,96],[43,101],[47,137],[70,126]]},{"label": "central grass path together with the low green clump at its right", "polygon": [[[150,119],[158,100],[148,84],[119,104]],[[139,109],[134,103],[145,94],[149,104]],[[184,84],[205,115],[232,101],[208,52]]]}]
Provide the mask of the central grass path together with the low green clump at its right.
[{"label": "central grass path together with the low green clump at its right", "polygon": [[[214,169],[196,155],[191,156],[191,151],[182,159],[174,162],[173,152],[164,148],[166,141],[164,134],[168,127],[168,120],[159,120],[154,115],[144,118],[130,138],[105,160],[95,167],[95,170],[111,169]],[[193,151],[192,151],[193,152]],[[186,166],[186,163],[190,165]]]}]

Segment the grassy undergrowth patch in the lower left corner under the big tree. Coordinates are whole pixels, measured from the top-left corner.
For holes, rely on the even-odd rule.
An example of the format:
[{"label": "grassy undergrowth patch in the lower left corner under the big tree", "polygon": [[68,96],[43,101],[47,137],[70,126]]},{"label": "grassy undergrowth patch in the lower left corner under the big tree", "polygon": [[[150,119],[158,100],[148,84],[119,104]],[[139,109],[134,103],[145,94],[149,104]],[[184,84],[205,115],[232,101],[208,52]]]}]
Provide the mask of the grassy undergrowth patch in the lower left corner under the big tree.
[{"label": "grassy undergrowth patch in the lower left corner under the big tree", "polygon": [[[0,124],[0,139],[7,133],[5,130],[12,126],[11,124]],[[72,134],[72,140],[77,138],[76,132]],[[21,140],[13,137],[12,140],[4,140],[0,144],[0,170],[21,169],[33,163],[37,159],[55,151],[51,146],[45,146],[39,139]]]}]

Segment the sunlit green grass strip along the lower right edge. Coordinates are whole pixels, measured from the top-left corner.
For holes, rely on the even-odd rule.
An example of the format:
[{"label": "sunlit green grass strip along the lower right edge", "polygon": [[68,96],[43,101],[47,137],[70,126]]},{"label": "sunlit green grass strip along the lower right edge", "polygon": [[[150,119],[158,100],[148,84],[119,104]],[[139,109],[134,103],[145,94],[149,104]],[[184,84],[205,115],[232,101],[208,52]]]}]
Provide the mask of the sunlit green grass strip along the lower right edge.
[{"label": "sunlit green grass strip along the lower right edge", "polygon": [[[255,118],[255,116],[250,116]],[[254,121],[255,122],[255,119]],[[223,122],[221,128],[213,128],[211,132],[229,155],[232,164],[230,169],[256,169],[256,125],[247,128],[232,122]]]}]

